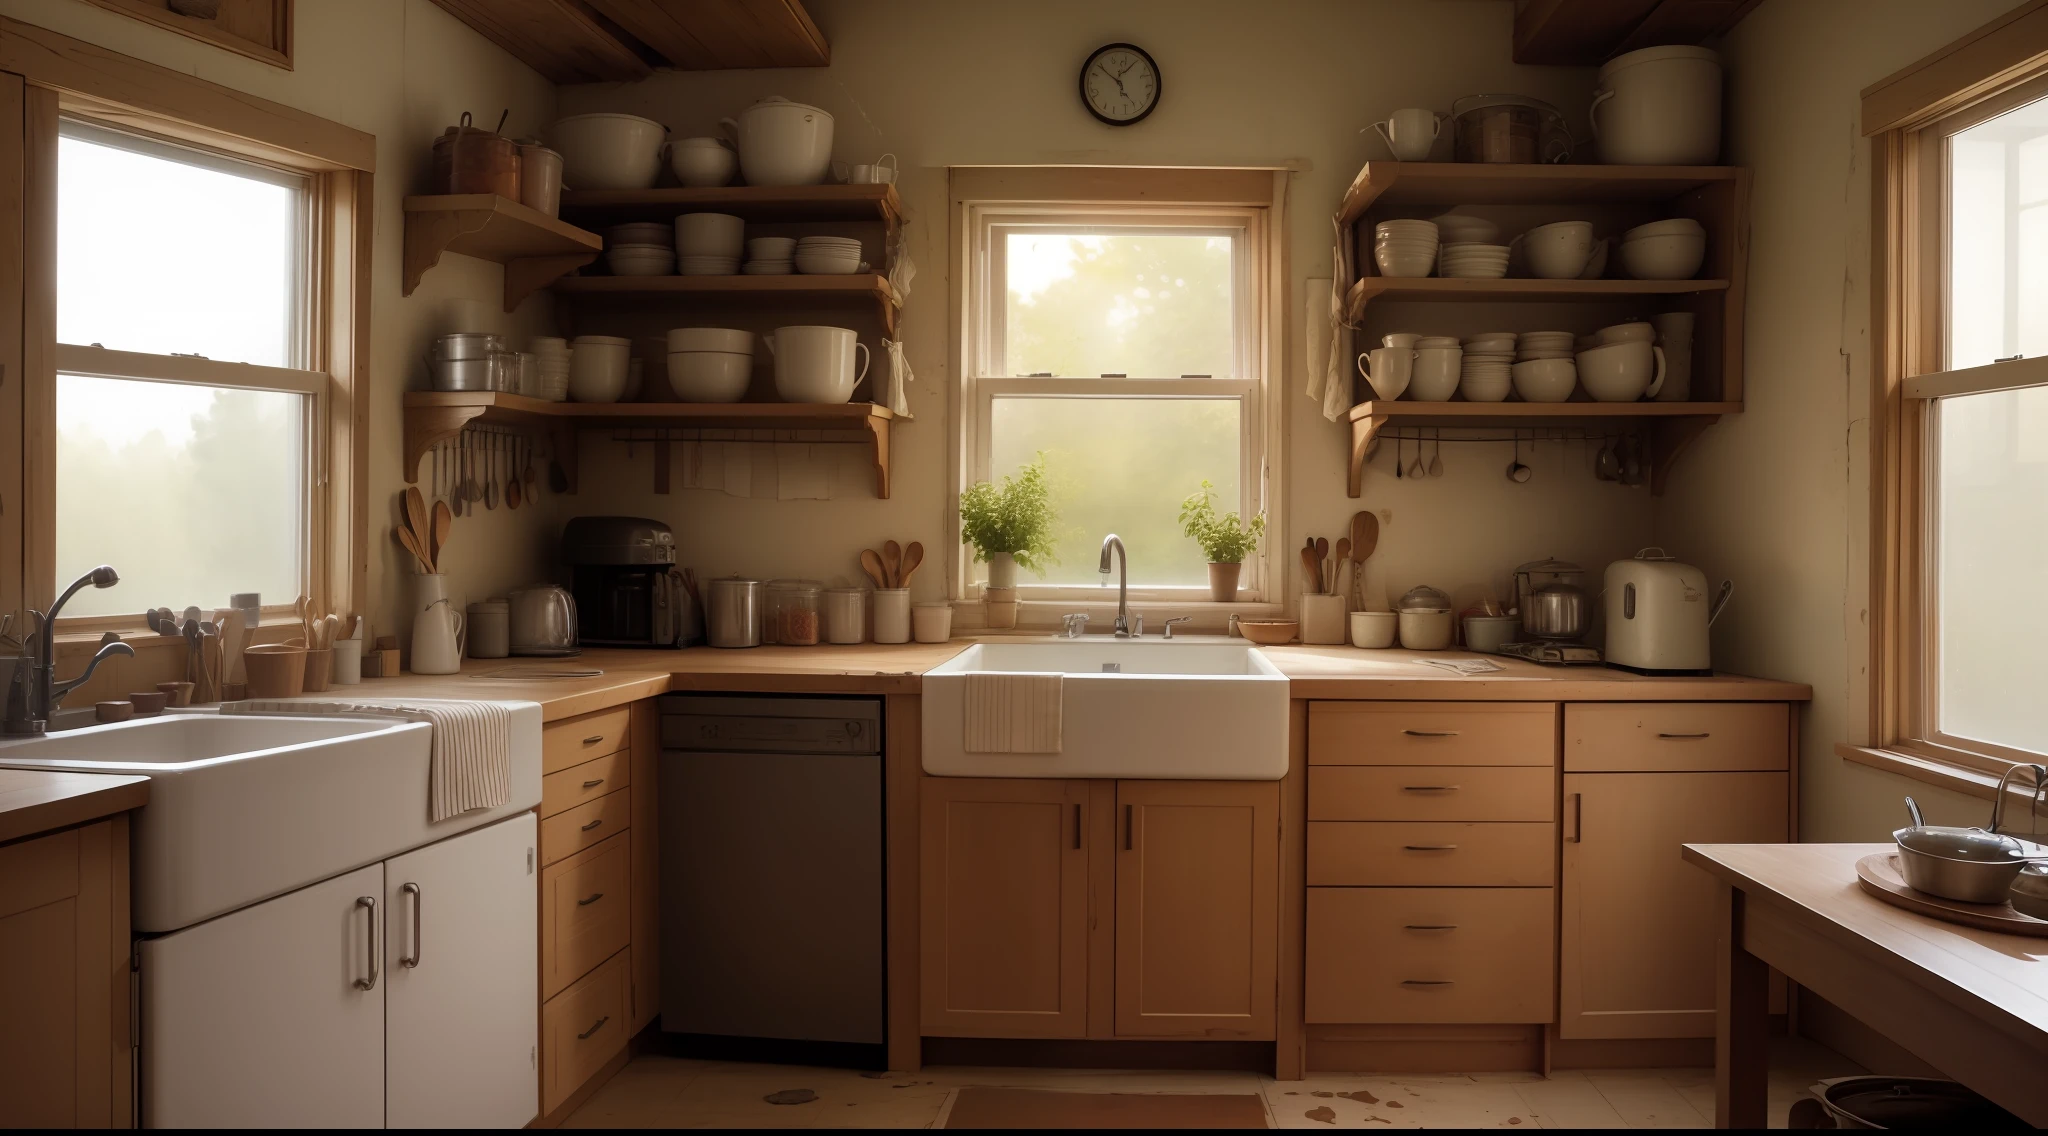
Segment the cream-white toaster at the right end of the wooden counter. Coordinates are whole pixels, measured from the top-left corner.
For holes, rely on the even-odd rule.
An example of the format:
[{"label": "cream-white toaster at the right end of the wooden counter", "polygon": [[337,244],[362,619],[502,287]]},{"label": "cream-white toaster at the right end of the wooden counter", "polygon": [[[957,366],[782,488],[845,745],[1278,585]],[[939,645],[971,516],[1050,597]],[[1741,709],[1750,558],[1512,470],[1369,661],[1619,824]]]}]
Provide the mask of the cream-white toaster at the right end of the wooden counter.
[{"label": "cream-white toaster at the right end of the wooden counter", "polygon": [[1714,673],[1708,626],[1735,581],[1708,598],[1706,573],[1663,549],[1614,561],[1606,573],[1608,665],[1642,675]]}]

